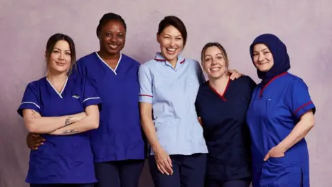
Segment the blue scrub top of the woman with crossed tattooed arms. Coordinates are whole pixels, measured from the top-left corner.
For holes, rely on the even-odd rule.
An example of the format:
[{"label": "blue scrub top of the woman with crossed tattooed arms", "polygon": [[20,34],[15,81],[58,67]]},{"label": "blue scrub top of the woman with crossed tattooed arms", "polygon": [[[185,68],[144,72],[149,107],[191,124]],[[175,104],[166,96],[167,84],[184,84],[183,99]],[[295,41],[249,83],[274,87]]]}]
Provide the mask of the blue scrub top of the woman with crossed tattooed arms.
[{"label": "blue scrub top of the woman with crossed tattooed arms", "polygon": [[[30,82],[17,112],[33,109],[43,117],[66,116],[100,105],[95,89],[84,78],[70,75],[61,93],[47,78]],[[30,184],[88,184],[96,182],[89,132],[73,135],[42,134],[46,139],[30,151],[26,182]]]}]

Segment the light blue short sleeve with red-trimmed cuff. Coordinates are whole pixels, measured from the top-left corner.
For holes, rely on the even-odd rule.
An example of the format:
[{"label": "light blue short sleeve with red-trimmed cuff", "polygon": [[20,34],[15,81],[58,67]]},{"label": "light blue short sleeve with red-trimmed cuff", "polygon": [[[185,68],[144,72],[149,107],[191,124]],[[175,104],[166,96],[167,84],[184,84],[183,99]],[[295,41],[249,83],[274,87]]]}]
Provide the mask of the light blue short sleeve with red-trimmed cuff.
[{"label": "light blue short sleeve with red-trimmed cuff", "polygon": [[147,66],[140,65],[138,68],[138,82],[140,84],[139,102],[152,103],[152,75]]}]

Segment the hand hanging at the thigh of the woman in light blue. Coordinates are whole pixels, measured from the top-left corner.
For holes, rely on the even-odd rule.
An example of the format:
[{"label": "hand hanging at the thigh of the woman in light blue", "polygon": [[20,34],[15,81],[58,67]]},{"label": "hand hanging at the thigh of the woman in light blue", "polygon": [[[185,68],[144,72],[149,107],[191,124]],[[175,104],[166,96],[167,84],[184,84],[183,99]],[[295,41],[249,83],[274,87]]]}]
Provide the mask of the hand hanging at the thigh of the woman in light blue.
[{"label": "hand hanging at the thigh of the woman in light blue", "polygon": [[156,160],[157,168],[162,174],[173,175],[172,160],[171,157],[163,150],[163,148],[157,148],[154,150],[154,159]]}]

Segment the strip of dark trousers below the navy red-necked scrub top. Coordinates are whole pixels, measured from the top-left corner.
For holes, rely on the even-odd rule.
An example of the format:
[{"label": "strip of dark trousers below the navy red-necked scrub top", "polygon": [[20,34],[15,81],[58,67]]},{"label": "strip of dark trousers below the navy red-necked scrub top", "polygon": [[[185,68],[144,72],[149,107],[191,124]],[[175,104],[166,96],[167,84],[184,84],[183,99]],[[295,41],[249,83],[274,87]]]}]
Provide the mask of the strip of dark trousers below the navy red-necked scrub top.
[{"label": "strip of dark trousers below the navy red-necked scrub top", "polygon": [[231,181],[205,180],[205,187],[249,187],[251,179],[237,179]]}]

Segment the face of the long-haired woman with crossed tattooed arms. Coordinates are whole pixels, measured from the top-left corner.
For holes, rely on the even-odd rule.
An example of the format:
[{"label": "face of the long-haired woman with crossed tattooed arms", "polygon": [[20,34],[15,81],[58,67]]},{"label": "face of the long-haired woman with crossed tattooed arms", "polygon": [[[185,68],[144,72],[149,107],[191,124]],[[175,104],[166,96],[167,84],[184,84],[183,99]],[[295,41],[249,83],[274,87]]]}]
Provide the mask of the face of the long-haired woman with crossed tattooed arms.
[{"label": "face of the long-haired woman with crossed tattooed arms", "polygon": [[71,48],[65,40],[59,40],[48,58],[48,69],[54,73],[67,73],[71,67]]}]

